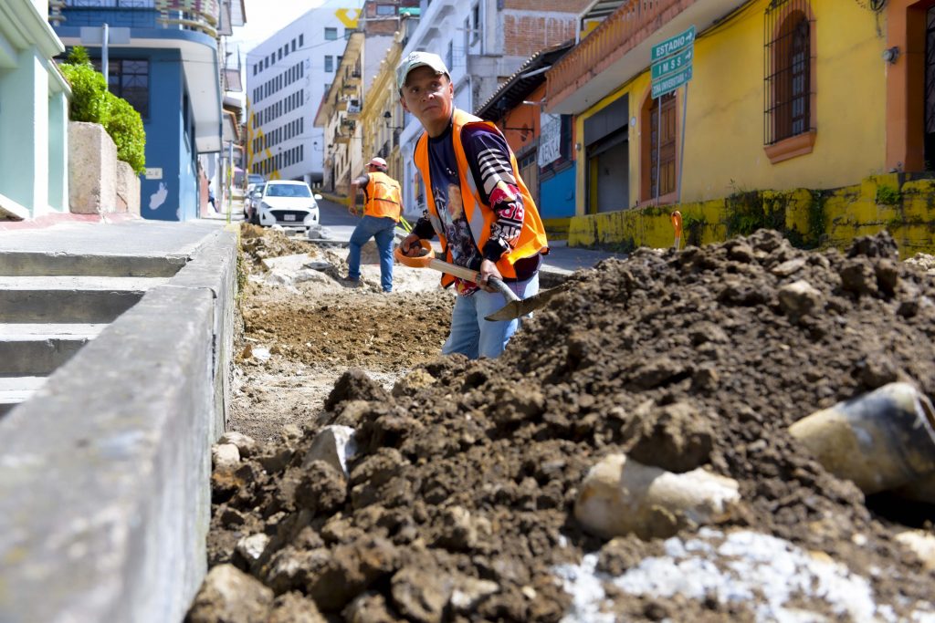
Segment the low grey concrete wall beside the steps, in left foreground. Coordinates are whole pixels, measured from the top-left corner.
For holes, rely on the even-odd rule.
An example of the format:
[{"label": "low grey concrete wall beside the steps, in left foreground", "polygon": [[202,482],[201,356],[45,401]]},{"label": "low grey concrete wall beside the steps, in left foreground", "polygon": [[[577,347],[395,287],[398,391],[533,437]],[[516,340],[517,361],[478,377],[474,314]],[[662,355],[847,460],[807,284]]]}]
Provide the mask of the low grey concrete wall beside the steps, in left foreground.
[{"label": "low grey concrete wall beside the steps, in left foreground", "polygon": [[219,232],[0,419],[0,621],[184,616],[207,566],[235,272]]}]

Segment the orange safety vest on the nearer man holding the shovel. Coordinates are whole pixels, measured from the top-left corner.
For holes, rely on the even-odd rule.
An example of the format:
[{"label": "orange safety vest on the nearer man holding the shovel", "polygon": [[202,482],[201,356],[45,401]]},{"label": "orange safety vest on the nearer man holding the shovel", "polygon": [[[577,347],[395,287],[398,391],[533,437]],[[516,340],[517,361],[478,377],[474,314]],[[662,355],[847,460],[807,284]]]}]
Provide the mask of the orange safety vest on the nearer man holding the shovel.
[{"label": "orange safety vest on the nearer man holding the shovel", "polygon": [[[452,127],[452,141],[454,144],[454,156],[458,161],[458,181],[461,186],[461,200],[464,203],[464,213],[468,219],[471,234],[474,237],[474,243],[479,251],[482,251],[484,244],[490,238],[490,230],[496,219],[496,214],[489,205],[484,205],[481,201],[481,194],[474,183],[474,176],[471,175],[468,157],[465,155],[464,145],[461,143],[461,131],[468,125],[482,125],[492,132],[501,135],[500,129],[490,121],[484,121],[479,117],[468,114],[463,110],[454,109]],[[506,142],[506,139],[503,141]],[[425,203],[428,206],[428,219],[432,222],[435,233],[439,234],[441,246],[445,249],[445,260],[452,262],[452,252],[448,248],[448,241],[445,239],[444,228],[439,218],[439,213],[435,207],[435,198],[432,196],[432,182],[429,176],[428,166],[428,135],[423,133],[415,147],[415,165],[422,173],[425,186]],[[500,275],[515,279],[516,271],[513,264],[517,260],[529,258],[543,250],[548,250],[548,241],[545,237],[545,227],[542,225],[542,219],[539,218],[539,209],[536,202],[533,201],[529,189],[526,188],[523,178],[520,177],[519,167],[516,165],[516,157],[510,150],[510,165],[513,169],[513,178],[516,180],[516,186],[523,194],[523,206],[525,208],[525,217],[523,219],[523,228],[520,231],[519,240],[516,241],[516,247],[505,253],[496,262],[496,269]],[[468,190],[467,192],[465,190]],[[447,273],[441,276],[441,284],[448,286],[454,281],[454,277]]]}]

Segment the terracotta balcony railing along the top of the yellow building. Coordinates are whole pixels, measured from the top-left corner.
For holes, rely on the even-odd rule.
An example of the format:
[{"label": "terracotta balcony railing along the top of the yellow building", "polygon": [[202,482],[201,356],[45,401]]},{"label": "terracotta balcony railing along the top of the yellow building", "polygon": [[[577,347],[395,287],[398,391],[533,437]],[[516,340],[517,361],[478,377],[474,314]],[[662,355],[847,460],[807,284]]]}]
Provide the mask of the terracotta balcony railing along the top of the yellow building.
[{"label": "terracotta balcony railing along the top of the yellow building", "polygon": [[554,64],[546,85],[546,99],[564,99],[580,78],[593,77],[652,35],[671,17],[696,0],[630,0]]}]

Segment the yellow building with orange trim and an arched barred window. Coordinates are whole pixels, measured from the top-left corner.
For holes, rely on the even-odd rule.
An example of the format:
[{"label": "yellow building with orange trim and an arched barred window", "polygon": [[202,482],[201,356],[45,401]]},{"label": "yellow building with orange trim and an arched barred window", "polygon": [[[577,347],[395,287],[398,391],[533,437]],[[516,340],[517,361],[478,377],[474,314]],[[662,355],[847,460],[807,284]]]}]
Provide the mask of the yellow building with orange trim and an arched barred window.
[{"label": "yellow building with orange trim and an arched barred window", "polygon": [[[753,196],[762,212],[762,191],[785,204],[797,189],[853,190],[867,186],[867,178],[877,180],[870,183],[870,203],[879,204],[881,184],[899,193],[905,176],[878,176],[923,172],[935,162],[935,134],[925,129],[928,109],[928,127],[935,133],[935,95],[927,101],[924,89],[931,4],[622,3],[547,75],[546,112],[575,116],[577,215],[606,221],[599,215],[698,205],[705,214],[696,216],[718,237],[738,233],[727,226],[729,209],[717,215],[717,202],[736,204],[725,201],[731,197]],[[691,29],[694,36],[681,42],[681,53],[668,57],[678,59],[669,76],[691,66],[687,86],[654,99],[654,48]],[[887,196],[889,204],[881,209],[892,206],[893,196]],[[801,212],[813,200],[792,203]],[[846,202],[841,210],[838,216],[846,216]],[[636,211],[644,221],[669,215],[669,209]],[[886,220],[892,229],[894,220],[881,214],[866,218]],[[820,219],[826,235],[832,216]],[[634,233],[633,217],[614,219],[620,223],[616,234],[598,237],[653,242]],[[796,219],[799,229],[816,226],[803,224],[801,214],[786,215],[790,227]],[[595,231],[593,225],[573,222],[572,229]],[[645,230],[646,223],[640,227]]]}]

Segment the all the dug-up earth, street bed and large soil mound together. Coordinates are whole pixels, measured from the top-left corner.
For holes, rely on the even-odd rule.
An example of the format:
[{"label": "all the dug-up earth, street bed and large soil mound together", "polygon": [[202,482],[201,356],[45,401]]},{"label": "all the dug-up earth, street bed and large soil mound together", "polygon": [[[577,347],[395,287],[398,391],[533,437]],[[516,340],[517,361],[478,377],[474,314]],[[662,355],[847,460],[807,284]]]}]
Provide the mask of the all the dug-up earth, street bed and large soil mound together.
[{"label": "all the dug-up earth, street bed and large soil mound together", "polygon": [[[424,276],[342,289],[338,256],[275,238],[245,237],[232,428],[252,438],[216,457],[189,620],[935,617],[931,559],[898,538],[930,537],[931,506],[868,501],[787,431],[894,381],[935,394],[935,283],[887,234],[640,249],[573,276],[496,361],[437,357],[452,298]],[[260,256],[309,249],[326,279],[259,282]],[[307,460],[335,425],[347,473]],[[615,453],[741,502],[597,537],[575,502]]]}]

